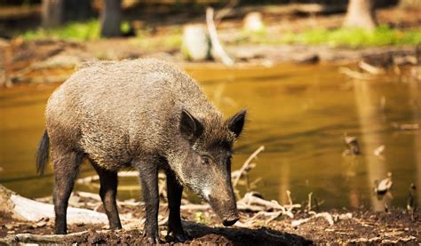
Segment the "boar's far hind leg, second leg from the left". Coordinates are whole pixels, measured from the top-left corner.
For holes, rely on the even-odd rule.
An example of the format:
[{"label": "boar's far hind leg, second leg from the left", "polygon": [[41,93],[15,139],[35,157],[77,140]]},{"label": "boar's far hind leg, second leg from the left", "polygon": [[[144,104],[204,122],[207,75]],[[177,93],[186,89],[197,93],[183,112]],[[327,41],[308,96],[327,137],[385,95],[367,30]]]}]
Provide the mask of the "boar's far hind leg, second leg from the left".
[{"label": "boar's far hind leg, second leg from the left", "polygon": [[117,203],[115,202],[118,184],[117,172],[101,168],[98,164],[95,164],[92,161],[91,163],[99,175],[99,182],[101,184],[99,188],[99,196],[101,197],[104,209],[107,213],[109,228],[121,229],[122,224],[118,216]]}]

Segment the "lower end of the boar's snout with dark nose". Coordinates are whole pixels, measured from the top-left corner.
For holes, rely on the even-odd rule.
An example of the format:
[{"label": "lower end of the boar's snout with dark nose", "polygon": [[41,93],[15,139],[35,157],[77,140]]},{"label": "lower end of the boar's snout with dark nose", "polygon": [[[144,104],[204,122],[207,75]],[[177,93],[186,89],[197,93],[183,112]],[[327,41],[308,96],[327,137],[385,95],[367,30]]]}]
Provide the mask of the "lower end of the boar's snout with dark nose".
[{"label": "lower end of the boar's snout with dark nose", "polygon": [[233,226],[235,222],[238,221],[239,216],[235,200],[234,202],[218,201],[211,195],[209,195],[208,198],[208,202],[211,204],[212,210],[214,210],[218,217],[222,220],[222,225]]}]

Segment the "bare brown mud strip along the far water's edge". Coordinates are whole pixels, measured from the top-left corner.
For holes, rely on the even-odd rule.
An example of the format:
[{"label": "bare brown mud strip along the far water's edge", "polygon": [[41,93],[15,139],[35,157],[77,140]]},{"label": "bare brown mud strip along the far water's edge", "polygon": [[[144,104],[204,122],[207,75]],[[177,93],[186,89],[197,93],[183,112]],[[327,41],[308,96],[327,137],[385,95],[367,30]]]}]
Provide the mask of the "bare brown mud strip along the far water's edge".
[{"label": "bare brown mud strip along the far water's edge", "polygon": [[[118,47],[118,49],[113,48]],[[103,48],[103,49],[102,49]],[[126,40],[104,40],[93,43],[66,41],[23,41],[15,39],[0,44],[0,86],[10,87],[28,83],[62,83],[84,61],[99,59],[98,52],[107,52],[111,60],[152,57],[177,63],[182,67],[224,67],[217,61],[192,62],[178,51],[142,52]],[[421,49],[421,48],[420,48]],[[311,45],[243,44],[227,47],[236,61],[234,68],[276,67],[280,63],[328,63],[353,66],[364,61],[373,69],[385,71],[410,67],[410,77],[421,78],[417,65],[417,47],[390,46],[377,48],[330,48]],[[421,51],[418,51],[421,52]]]}]

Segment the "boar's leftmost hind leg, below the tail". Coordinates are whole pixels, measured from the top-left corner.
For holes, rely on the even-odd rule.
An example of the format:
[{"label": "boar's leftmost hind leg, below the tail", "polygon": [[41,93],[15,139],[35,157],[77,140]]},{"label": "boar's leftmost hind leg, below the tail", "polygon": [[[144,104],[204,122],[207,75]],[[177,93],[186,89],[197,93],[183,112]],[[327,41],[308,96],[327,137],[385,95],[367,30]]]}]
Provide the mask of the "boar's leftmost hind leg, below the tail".
[{"label": "boar's leftmost hind leg, below the tail", "polygon": [[79,165],[82,163],[83,154],[74,151],[63,151],[55,148],[52,151],[54,163],[54,211],[55,234],[67,234],[68,198],[75,185],[75,178]]}]

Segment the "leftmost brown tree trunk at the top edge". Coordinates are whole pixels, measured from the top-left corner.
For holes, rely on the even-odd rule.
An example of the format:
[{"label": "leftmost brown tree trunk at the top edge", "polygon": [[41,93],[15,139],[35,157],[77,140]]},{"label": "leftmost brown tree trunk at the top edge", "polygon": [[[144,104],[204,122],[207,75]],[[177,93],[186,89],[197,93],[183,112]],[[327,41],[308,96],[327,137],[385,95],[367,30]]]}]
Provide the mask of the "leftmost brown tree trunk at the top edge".
[{"label": "leftmost brown tree trunk at the top edge", "polygon": [[43,0],[42,18],[45,28],[57,28],[63,24],[65,0]]}]

